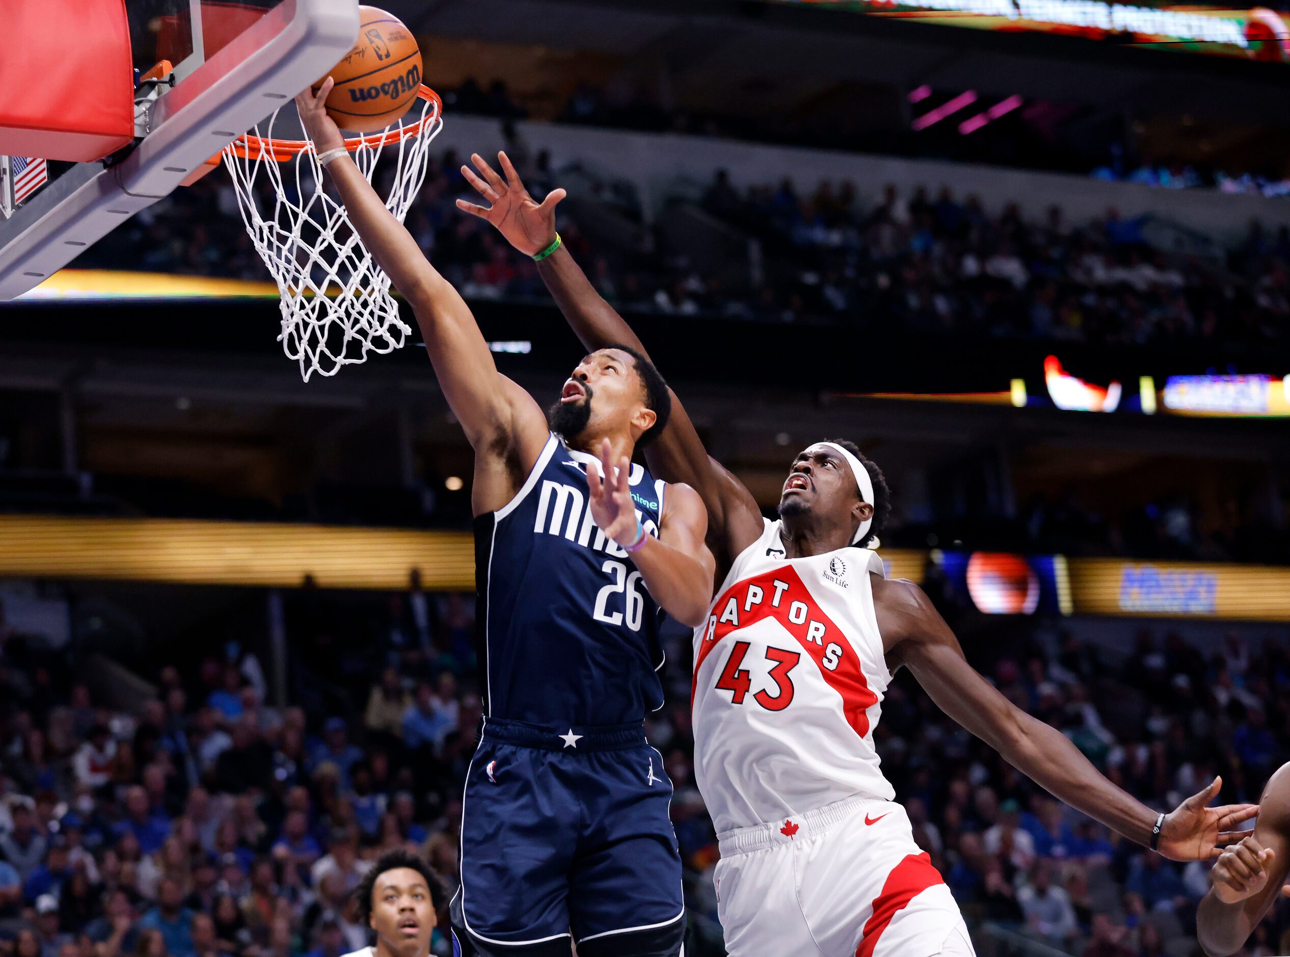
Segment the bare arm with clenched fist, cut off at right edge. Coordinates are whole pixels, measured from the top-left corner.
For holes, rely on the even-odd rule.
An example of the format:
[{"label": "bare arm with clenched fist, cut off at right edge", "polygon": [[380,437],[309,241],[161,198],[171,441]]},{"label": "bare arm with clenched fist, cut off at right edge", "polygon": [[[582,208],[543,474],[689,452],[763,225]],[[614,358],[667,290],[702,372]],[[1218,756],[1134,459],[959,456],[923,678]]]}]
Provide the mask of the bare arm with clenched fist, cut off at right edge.
[{"label": "bare arm with clenched fist, cut off at right edge", "polygon": [[1196,938],[1210,957],[1227,957],[1272,909],[1290,876],[1290,765],[1263,788],[1254,833],[1214,864],[1209,894],[1196,912]]}]

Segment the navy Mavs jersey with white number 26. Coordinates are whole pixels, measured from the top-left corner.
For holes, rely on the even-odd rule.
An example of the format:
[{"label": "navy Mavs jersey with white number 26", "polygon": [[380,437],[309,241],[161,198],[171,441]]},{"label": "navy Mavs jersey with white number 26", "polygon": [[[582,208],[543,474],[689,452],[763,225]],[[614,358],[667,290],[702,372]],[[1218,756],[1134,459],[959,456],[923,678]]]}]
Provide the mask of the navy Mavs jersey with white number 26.
[{"label": "navy Mavs jersey with white number 26", "polygon": [[[552,435],[519,494],[475,520],[479,655],[489,717],[618,725],[663,705],[660,610],[631,556],[591,517],[593,455]],[[632,466],[658,537],[666,484]]]}]

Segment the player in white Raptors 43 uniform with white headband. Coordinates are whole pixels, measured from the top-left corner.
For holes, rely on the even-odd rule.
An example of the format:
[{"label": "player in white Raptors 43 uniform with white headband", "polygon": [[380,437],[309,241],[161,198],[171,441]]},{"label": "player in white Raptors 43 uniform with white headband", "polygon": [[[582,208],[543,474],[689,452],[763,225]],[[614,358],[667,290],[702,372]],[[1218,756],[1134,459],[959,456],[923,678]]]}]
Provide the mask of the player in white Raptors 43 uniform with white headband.
[{"label": "player in white Raptors 43 uniform with white headband", "polygon": [[[556,190],[539,205],[510,161],[463,173],[489,208],[462,209],[521,252],[555,242]],[[482,178],[481,178],[482,177]],[[588,348],[631,328],[560,248],[538,271]],[[787,373],[788,370],[786,370]],[[721,844],[720,917],[731,957],[970,954],[962,917],[913,841],[873,748],[891,675],[908,667],[931,699],[1049,792],[1175,860],[1220,855],[1251,805],[1206,807],[1222,782],[1157,814],[1107,780],[1060,733],[978,675],[928,596],[888,580],[864,548],[888,511],[881,471],[849,442],[797,455],[779,518],[711,459],[672,396],[646,453],[654,475],[686,482],[708,509],[721,582],[695,631],[695,773]]]}]

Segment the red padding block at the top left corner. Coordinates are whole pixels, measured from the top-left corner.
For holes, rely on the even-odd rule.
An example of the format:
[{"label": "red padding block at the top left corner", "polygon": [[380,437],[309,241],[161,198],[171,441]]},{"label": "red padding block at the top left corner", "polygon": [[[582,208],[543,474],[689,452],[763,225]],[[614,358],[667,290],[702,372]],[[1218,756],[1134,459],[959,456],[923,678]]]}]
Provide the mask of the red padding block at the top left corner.
[{"label": "red padding block at the top left corner", "polygon": [[134,139],[125,0],[3,0],[0,36],[0,153],[88,163]]}]

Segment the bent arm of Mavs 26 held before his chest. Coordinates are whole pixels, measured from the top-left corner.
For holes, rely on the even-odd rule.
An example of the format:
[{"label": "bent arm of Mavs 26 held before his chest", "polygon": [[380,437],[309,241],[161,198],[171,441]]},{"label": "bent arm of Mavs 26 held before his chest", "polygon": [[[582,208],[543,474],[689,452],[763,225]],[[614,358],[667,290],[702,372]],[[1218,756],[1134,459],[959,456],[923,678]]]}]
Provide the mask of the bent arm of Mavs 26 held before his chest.
[{"label": "bent arm of Mavs 26 held before his chest", "polygon": [[631,459],[624,455],[615,475],[608,439],[600,448],[600,467],[604,479],[595,468],[587,469],[591,516],[596,525],[627,549],[641,580],[663,610],[681,624],[698,628],[712,602],[715,565],[712,552],[703,544],[708,516],[699,497],[689,485],[668,485],[659,537],[654,538],[645,534],[636,515],[630,484]]}]

